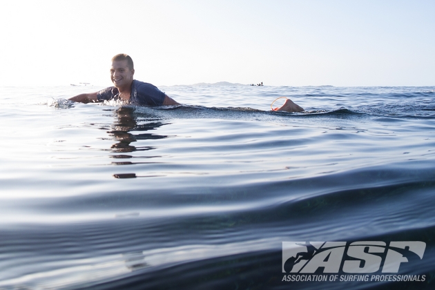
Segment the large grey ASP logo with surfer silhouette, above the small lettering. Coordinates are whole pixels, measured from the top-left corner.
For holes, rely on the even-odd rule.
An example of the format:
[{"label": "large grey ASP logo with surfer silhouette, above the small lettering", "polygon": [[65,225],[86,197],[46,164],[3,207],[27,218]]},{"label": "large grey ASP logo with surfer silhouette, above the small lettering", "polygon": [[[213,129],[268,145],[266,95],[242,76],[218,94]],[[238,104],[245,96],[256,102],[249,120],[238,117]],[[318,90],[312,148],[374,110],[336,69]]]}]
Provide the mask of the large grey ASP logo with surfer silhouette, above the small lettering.
[{"label": "large grey ASP logo with surfer silhouette, above the small lettering", "polygon": [[[282,242],[282,273],[398,273],[401,263],[423,259],[425,242]],[[345,257],[351,259],[342,262]]]}]

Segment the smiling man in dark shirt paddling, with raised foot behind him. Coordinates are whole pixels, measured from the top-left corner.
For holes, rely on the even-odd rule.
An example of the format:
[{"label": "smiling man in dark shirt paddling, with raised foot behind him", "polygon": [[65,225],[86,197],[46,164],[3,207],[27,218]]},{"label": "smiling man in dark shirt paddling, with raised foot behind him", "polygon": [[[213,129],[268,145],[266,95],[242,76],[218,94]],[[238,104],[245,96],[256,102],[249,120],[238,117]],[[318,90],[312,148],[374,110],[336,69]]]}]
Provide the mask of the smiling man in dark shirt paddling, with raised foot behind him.
[{"label": "smiling man in dark shirt paddling, with raised foot behind him", "polygon": [[[96,93],[77,95],[71,97],[70,100],[89,103],[116,99],[128,104],[142,106],[180,105],[152,84],[133,79],[134,74],[133,59],[125,54],[115,55],[112,58],[112,67],[110,68],[110,79],[115,86],[104,88]],[[290,99],[286,99],[284,105],[276,110],[302,112],[304,109],[293,103]]]}]

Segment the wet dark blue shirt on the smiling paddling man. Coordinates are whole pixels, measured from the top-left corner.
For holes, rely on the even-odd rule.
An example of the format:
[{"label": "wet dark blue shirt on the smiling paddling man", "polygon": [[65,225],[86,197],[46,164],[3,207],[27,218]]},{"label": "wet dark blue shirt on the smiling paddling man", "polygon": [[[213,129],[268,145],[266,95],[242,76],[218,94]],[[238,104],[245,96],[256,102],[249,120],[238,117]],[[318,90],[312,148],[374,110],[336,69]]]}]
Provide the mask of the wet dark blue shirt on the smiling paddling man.
[{"label": "wet dark blue shirt on the smiling paddling man", "polygon": [[[162,106],[165,93],[152,84],[133,80],[131,84],[130,104],[139,106]],[[119,90],[115,86],[104,88],[97,93],[99,101],[119,99]]]}]

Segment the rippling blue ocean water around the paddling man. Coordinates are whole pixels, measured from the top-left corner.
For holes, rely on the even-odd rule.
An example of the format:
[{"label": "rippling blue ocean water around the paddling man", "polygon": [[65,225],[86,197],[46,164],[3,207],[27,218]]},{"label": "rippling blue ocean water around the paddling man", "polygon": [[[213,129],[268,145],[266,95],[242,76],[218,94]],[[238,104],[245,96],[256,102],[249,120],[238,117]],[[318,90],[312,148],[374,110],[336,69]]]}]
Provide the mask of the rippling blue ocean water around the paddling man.
[{"label": "rippling blue ocean water around the paddling man", "polygon": [[[435,87],[160,88],[0,88],[1,290],[435,289]],[[421,241],[420,281],[284,281],[300,241]]]}]

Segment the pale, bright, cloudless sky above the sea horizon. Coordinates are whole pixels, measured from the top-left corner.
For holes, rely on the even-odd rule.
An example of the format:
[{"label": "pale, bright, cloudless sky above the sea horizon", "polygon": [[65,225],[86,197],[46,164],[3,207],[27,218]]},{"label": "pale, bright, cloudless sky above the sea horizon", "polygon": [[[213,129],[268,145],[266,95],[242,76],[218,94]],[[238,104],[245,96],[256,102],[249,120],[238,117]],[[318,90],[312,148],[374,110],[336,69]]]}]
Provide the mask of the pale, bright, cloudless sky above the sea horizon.
[{"label": "pale, bright, cloudless sky above the sea horizon", "polygon": [[1,2],[0,85],[434,86],[434,0]]}]

